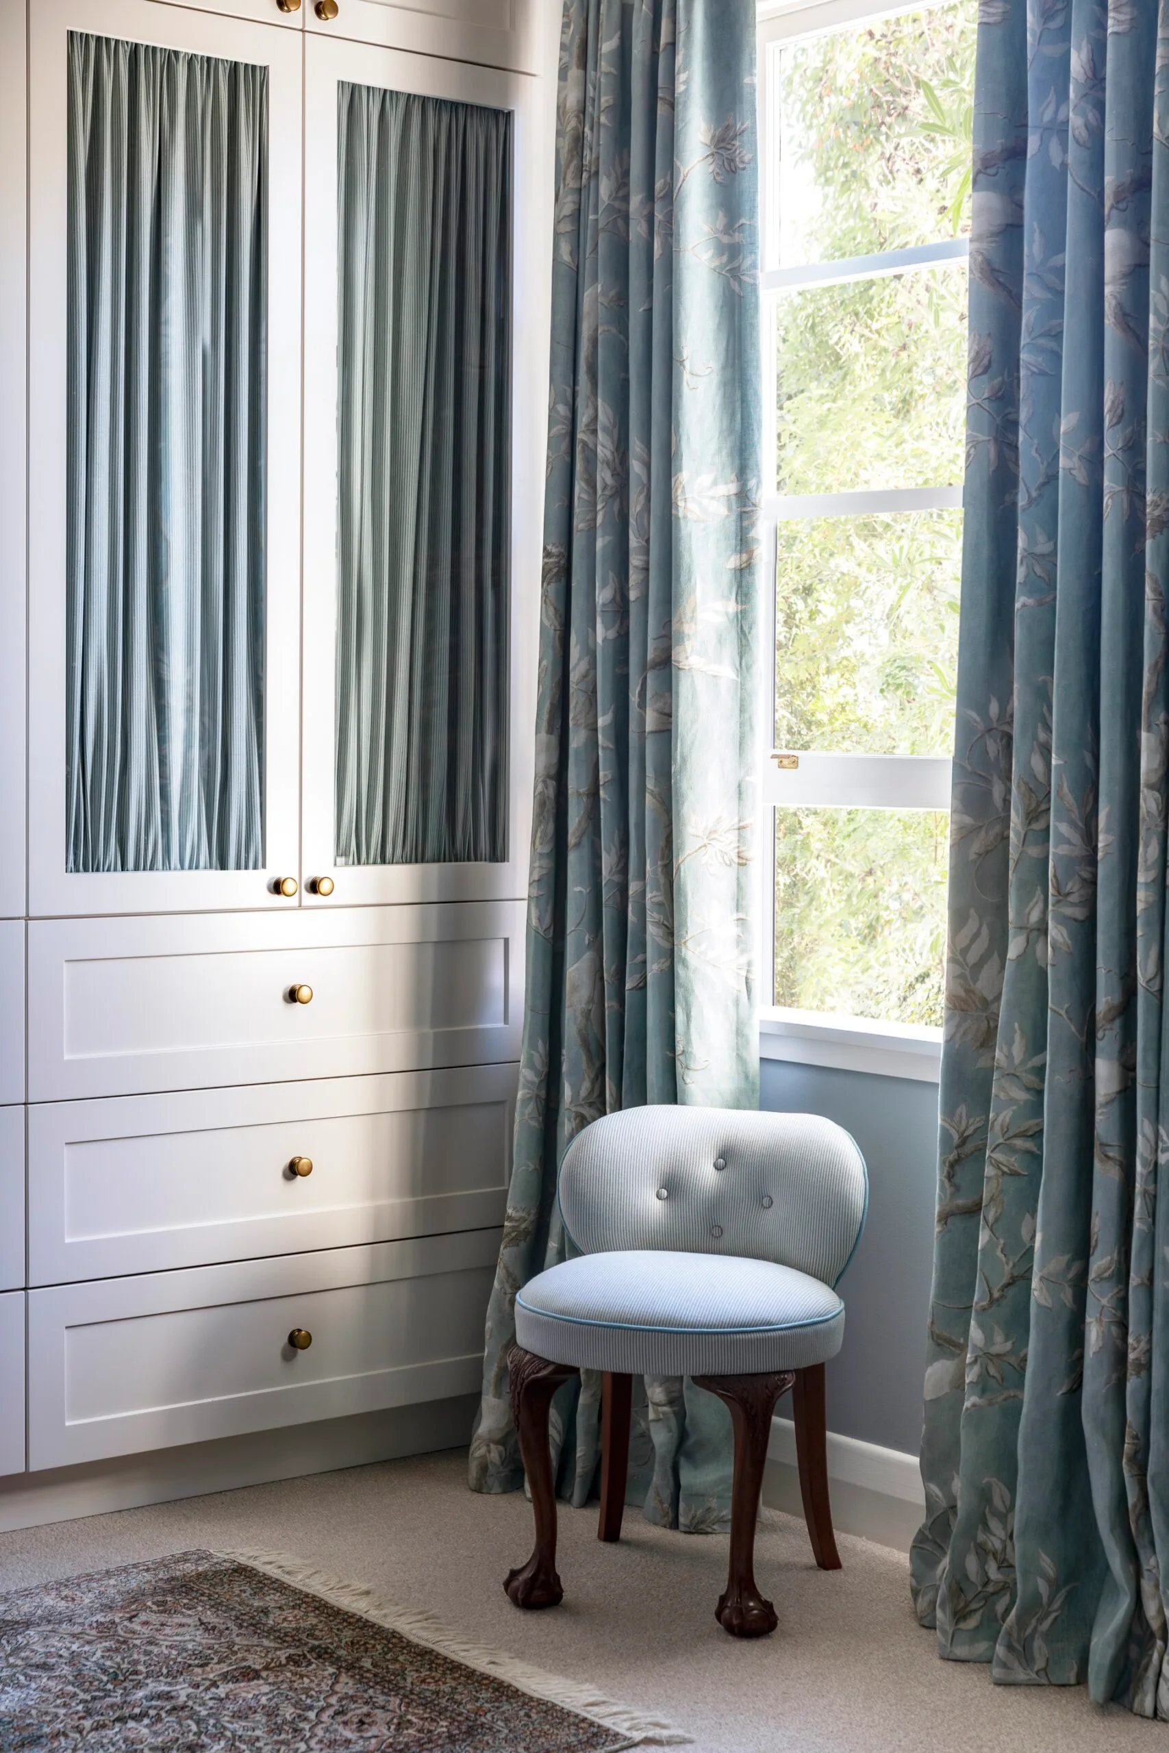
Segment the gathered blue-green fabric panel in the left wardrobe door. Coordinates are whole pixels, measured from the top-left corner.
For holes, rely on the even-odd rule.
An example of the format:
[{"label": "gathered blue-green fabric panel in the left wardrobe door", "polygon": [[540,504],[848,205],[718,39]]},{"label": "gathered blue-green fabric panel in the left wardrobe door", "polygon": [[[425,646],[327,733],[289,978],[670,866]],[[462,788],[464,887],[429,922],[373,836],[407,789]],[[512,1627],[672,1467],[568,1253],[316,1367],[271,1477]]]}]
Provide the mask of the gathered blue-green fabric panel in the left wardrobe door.
[{"label": "gathered blue-green fabric panel in the left wardrobe door", "polygon": [[68,39],[68,869],[263,862],[266,68]]}]

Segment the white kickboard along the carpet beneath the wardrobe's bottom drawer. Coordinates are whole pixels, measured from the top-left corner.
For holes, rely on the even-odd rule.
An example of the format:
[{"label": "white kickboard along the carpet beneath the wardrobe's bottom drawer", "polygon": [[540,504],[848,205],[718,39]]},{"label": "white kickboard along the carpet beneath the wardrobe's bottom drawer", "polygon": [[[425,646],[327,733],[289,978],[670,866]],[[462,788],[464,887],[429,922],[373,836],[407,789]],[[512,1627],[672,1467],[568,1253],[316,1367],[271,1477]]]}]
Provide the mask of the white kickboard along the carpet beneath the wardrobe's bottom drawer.
[{"label": "white kickboard along the carpet beneath the wardrobe's bottom drawer", "polygon": [[170,1504],[179,1497],[233,1492],[242,1485],[298,1480],[307,1473],[363,1467],[442,1448],[466,1448],[478,1395],[426,1401],[389,1411],[326,1418],[252,1436],[95,1460],[81,1467],[14,1473],[0,1480],[0,1532],[74,1522],[110,1509]]}]

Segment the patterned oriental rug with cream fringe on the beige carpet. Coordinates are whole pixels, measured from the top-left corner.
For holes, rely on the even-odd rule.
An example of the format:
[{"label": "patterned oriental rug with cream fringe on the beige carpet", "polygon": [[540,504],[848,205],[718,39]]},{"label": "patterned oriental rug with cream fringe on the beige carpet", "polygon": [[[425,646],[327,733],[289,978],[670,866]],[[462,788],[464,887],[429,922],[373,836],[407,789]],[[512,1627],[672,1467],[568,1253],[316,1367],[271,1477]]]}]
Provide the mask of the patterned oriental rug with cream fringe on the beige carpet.
[{"label": "patterned oriental rug with cream fringe on the beige carpet", "polygon": [[266,1553],[0,1595],[0,1753],[617,1753],[666,1723]]}]

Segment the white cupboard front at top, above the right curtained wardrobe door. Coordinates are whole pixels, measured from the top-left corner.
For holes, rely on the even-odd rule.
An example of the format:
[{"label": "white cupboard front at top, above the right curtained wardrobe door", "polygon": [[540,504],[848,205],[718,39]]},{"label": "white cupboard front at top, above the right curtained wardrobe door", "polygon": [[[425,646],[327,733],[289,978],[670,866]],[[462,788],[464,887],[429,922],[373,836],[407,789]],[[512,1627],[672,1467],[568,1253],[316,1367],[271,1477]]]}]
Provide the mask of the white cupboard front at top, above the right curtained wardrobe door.
[{"label": "white cupboard front at top, above the right curtained wardrobe door", "polygon": [[305,0],[305,30],[484,67],[538,67],[540,0]]}]

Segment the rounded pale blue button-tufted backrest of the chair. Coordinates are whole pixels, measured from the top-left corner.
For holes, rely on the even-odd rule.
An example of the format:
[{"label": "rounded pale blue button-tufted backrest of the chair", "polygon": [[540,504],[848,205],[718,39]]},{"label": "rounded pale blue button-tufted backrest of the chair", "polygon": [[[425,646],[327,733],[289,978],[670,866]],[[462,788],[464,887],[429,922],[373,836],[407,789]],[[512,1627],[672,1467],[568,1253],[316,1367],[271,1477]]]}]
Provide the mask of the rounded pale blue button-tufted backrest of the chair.
[{"label": "rounded pale blue button-tufted backrest of the chair", "polygon": [[561,1215],[582,1253],[659,1248],[773,1260],[834,1285],[868,1206],[864,1157],[810,1113],[629,1108],[578,1132]]}]

